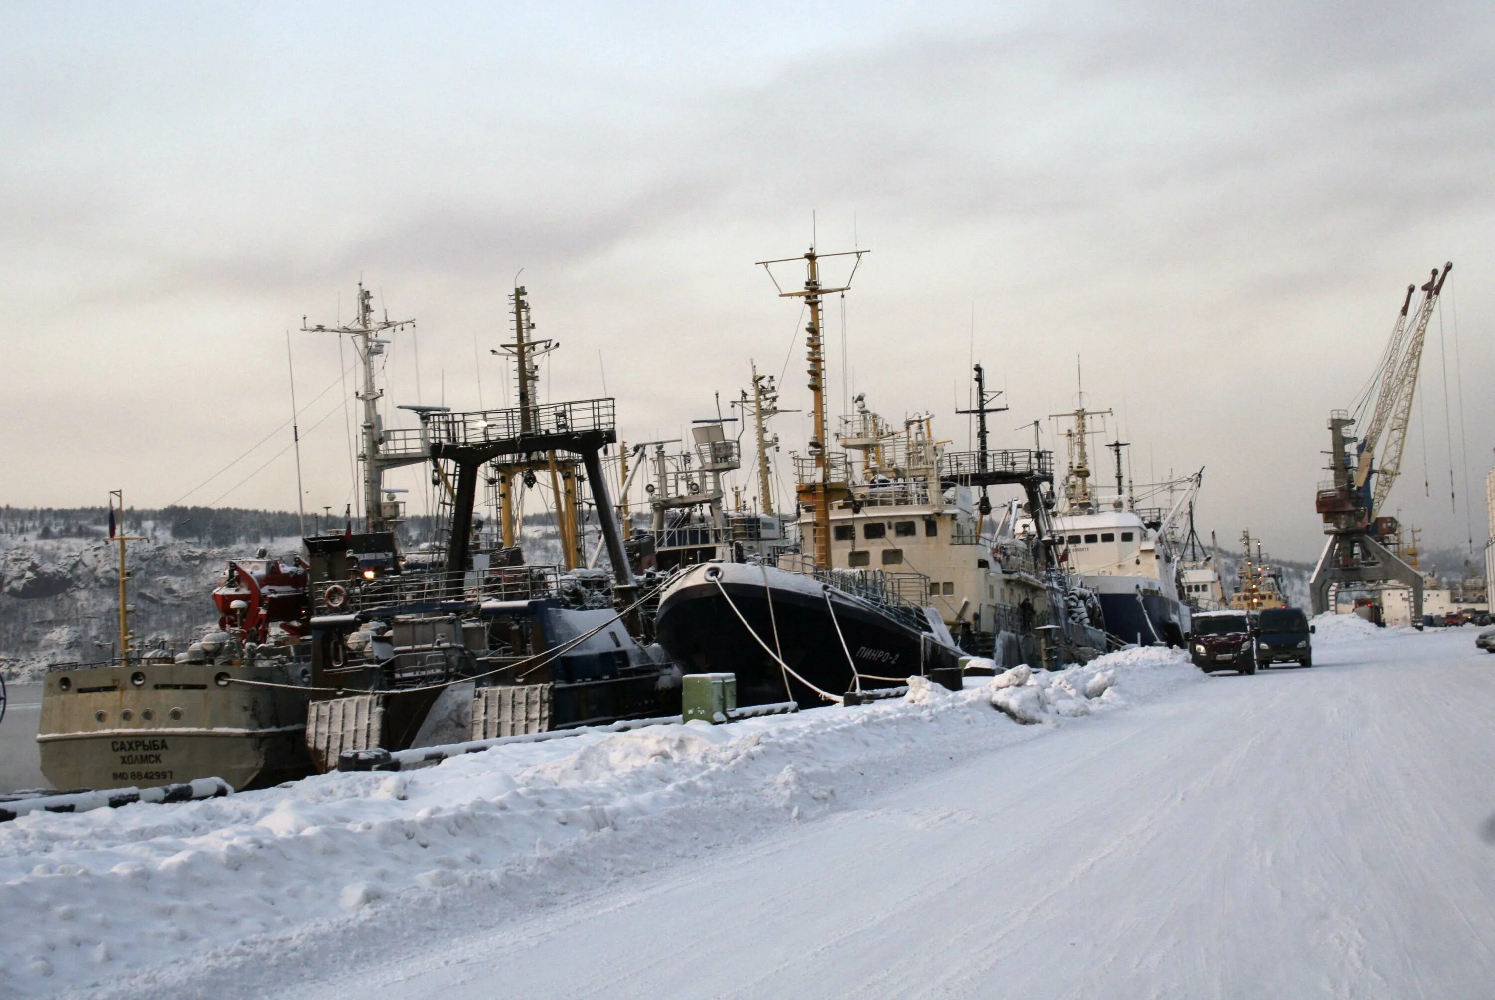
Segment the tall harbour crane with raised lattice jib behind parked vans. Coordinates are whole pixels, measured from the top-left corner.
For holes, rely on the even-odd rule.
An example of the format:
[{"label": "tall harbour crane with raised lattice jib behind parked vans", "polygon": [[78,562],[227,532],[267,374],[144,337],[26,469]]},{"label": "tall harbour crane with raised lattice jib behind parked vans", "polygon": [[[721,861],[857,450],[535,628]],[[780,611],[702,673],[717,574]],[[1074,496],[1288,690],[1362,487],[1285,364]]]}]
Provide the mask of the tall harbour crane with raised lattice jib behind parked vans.
[{"label": "tall harbour crane with raised lattice jib behind parked vans", "polygon": [[1422,574],[1387,547],[1398,525],[1395,517],[1381,511],[1401,475],[1422,347],[1452,269],[1452,262],[1441,272],[1434,268],[1432,277],[1422,286],[1416,312],[1411,311],[1411,300],[1417,286],[1407,286],[1378,374],[1365,396],[1366,404],[1372,398],[1375,402],[1363,436],[1351,433],[1356,417],[1350,411],[1334,410],[1329,414],[1332,478],[1320,483],[1314,495],[1314,510],[1323,517],[1329,538],[1310,581],[1314,614],[1331,610],[1332,592],[1338,586],[1404,583],[1411,589],[1413,619],[1422,617]]}]

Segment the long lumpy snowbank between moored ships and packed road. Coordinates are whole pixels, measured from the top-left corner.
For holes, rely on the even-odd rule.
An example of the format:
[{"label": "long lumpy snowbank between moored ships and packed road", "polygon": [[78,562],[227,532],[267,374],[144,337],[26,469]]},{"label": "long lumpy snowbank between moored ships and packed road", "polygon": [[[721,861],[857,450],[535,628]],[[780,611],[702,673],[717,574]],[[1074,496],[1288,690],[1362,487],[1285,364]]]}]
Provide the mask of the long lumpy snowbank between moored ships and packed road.
[{"label": "long lumpy snowbank between moored ships and packed road", "polygon": [[[595,889],[698,843],[837,809],[837,789],[882,788],[1120,706],[1120,692],[1196,679],[1178,652],[1126,650],[960,692],[910,679],[907,697],[854,709],[588,732],[175,806],[31,813],[0,825],[0,996],[139,996],[193,963],[278,958],[440,906],[514,910]],[[1012,726],[991,706],[1044,725]]]}]

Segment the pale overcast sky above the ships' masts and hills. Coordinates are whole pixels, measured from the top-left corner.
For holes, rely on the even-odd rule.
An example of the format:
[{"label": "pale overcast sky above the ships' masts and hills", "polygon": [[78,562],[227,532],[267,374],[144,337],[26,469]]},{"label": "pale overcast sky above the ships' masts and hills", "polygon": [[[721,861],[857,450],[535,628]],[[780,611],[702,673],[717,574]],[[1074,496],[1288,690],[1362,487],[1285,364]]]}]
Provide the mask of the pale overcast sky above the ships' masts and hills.
[{"label": "pale overcast sky above the ships' masts and hills", "polygon": [[[1492,146],[1491,3],[6,3],[0,502],[295,508],[289,430],[202,483],[287,419],[287,329],[299,402],[336,381],[299,327],[360,277],[419,320],[395,402],[502,401],[523,268],[550,396],[605,372],[629,439],[752,359],[804,407],[798,306],[753,262],[813,212],[872,250],[845,326],[875,408],[964,445],[973,350],[1020,447],[1078,357],[1138,480],[1206,466],[1200,528],[1292,558],[1328,411],[1453,260],[1390,507],[1479,547]],[[300,417],[315,508],[350,495],[339,398]]]}]

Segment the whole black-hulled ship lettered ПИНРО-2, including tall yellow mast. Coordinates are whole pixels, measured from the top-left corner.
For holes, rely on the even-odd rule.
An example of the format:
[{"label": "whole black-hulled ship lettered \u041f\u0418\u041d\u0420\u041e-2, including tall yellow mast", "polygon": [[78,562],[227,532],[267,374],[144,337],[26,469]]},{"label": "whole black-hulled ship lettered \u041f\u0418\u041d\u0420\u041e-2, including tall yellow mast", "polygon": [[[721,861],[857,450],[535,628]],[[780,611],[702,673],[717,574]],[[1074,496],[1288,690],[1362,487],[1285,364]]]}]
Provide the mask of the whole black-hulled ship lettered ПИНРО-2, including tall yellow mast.
[{"label": "whole black-hulled ship lettered \u041f\u0418\u041d\u0420\u041e-2, including tall yellow mast", "polygon": [[[759,553],[749,562],[722,558],[691,567],[659,598],[656,628],[664,649],[686,670],[734,673],[740,704],[789,698],[813,707],[897,686],[915,674],[958,686],[961,649],[930,605],[930,577],[893,559],[882,559],[878,567],[870,556],[840,564],[836,559],[837,552],[851,549],[839,546],[848,541],[843,528],[855,528],[843,525],[837,505],[851,502],[854,490],[846,454],[834,451],[830,442],[822,308],[824,296],[851,287],[866,253],[821,254],[812,247],[801,257],[759,262],[770,278],[776,265],[804,265],[803,287],[785,290],[774,278],[780,297],[801,299],[809,317],[804,329],[812,436],[807,454],[795,456],[801,550],[776,553],[776,559]],[[840,287],[821,281],[821,262],[831,257],[851,259]],[[756,436],[762,456],[761,428]],[[922,454],[934,453],[925,448]],[[933,505],[940,511],[928,511],[928,523],[937,525],[943,490],[937,471],[927,472],[915,507],[931,508],[931,496],[937,496]],[[767,486],[759,489],[764,496],[771,495]],[[907,499],[913,499],[912,493]],[[860,510],[861,501],[857,502]],[[909,525],[924,523],[922,516],[909,519]],[[897,534],[901,528],[893,531],[901,538]]]}]

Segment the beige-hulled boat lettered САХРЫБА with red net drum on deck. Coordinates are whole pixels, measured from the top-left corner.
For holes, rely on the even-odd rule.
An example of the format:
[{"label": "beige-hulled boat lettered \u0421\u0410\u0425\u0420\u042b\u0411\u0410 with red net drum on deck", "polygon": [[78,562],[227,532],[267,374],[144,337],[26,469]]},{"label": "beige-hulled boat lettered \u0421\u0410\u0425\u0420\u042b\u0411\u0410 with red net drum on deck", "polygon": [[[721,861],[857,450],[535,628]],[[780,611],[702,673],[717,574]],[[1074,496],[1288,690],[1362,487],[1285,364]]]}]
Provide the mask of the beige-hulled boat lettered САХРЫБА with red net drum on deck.
[{"label": "beige-hulled boat lettered \u0421\u0410\u0425\u0420\u042b\u0411\u0410 with red net drum on deck", "polygon": [[306,570],[232,561],[214,592],[220,631],[185,652],[135,646],[126,544],[111,493],[109,540],[120,547],[118,656],[52,667],[37,732],[42,774],[58,789],[151,788],[221,777],[235,789],[308,771],[303,744]]}]

